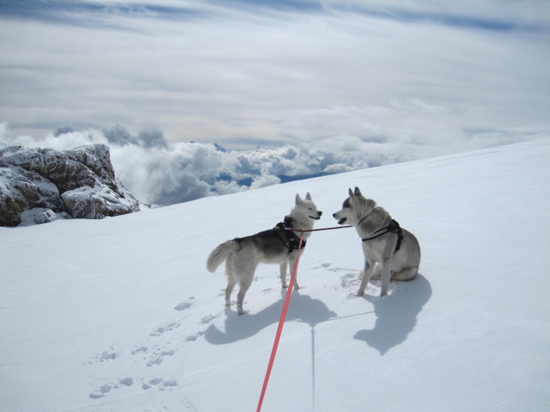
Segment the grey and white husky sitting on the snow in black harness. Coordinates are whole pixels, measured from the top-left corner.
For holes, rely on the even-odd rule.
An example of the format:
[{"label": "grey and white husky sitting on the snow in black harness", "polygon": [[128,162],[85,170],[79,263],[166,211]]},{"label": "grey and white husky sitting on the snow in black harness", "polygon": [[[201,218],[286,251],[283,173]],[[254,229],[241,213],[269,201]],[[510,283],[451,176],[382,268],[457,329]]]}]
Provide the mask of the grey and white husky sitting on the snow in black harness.
[{"label": "grey and white husky sitting on the snow in black harness", "polygon": [[332,215],[338,224],[351,225],[362,238],[365,257],[358,296],[369,280],[382,278],[380,296],[388,294],[390,279],[410,280],[418,273],[420,247],[417,238],[399,227],[382,207],[362,196],[359,187],[349,190],[342,209]]}]

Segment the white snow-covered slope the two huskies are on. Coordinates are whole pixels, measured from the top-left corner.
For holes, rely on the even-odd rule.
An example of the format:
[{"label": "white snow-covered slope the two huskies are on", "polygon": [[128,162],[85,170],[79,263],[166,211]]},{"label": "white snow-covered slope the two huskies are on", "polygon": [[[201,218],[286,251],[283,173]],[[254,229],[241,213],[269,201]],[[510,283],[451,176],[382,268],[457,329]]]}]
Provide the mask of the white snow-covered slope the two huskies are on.
[{"label": "white snow-covered slope the two huskies are on", "polygon": [[334,227],[357,185],[415,233],[420,274],[355,297],[357,233],[314,233],[262,411],[548,411],[549,160],[544,139],[0,228],[0,409],[254,411],[278,266],[259,267],[238,316],[208,253],[273,227],[296,193],[324,212],[316,228]]}]

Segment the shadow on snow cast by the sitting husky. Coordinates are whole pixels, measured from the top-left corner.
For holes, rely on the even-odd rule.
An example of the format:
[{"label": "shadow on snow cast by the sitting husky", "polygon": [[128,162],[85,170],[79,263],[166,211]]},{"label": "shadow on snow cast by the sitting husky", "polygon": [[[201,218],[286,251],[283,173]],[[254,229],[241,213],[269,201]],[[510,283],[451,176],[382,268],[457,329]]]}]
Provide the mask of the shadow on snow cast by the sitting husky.
[{"label": "shadow on snow cast by the sitting husky", "polygon": [[353,339],[365,341],[382,356],[407,338],[417,324],[417,316],[432,296],[426,277],[418,274],[408,282],[399,282],[387,297],[364,295],[375,310],[376,322],[370,330],[358,331]]}]

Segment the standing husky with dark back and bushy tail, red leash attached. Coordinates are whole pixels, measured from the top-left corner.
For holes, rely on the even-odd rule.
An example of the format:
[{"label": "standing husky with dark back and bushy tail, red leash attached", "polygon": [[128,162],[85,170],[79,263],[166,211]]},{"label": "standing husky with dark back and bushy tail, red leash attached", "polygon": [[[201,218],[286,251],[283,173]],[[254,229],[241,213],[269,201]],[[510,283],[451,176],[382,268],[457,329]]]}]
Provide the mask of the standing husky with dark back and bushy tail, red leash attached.
[{"label": "standing husky with dark back and bushy tail, red leash attached", "polygon": [[[245,238],[234,238],[223,242],[210,253],[206,261],[206,268],[210,272],[216,271],[225,260],[225,275],[228,277],[228,286],[225,288],[225,304],[231,305],[231,293],[239,283],[239,293],[236,297],[236,308],[239,314],[243,314],[243,301],[245,293],[252,284],[254,272],[259,263],[276,263],[281,265],[281,286],[287,287],[287,266],[298,258],[298,245],[300,236],[290,229],[311,230],[314,221],[321,218],[322,211],[311,201],[308,193],[303,200],[296,194],[296,205],[292,208],[285,221],[279,223],[270,230],[261,231]],[[306,240],[311,232],[304,233]],[[305,240],[300,249],[300,256],[304,252]],[[298,274],[294,278],[294,288],[299,289]]]}]

